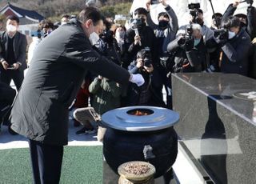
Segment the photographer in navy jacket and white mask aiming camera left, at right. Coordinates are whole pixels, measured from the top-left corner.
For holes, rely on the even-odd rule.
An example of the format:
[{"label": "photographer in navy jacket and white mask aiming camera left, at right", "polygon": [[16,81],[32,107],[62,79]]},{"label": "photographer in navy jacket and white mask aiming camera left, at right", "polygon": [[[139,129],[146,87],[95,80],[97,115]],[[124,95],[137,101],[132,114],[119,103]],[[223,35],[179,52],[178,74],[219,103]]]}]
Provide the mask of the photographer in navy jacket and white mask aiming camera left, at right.
[{"label": "photographer in navy jacket and white mask aiming camera left, at right", "polygon": [[221,49],[218,65],[222,72],[247,75],[251,46],[249,34],[241,28],[236,17],[224,20],[222,27],[222,30],[215,30],[214,38],[206,42],[206,46]]}]

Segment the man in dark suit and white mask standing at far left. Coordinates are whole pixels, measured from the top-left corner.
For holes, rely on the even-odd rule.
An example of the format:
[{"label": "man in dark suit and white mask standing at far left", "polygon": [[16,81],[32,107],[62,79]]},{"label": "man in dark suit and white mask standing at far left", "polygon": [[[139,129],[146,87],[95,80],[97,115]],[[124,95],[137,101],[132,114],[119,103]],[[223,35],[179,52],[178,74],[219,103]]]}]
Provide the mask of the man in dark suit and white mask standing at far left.
[{"label": "man in dark suit and white mask standing at far left", "polygon": [[26,69],[26,36],[18,32],[19,19],[14,15],[6,18],[6,31],[0,34],[0,80],[10,85],[11,79],[19,90]]}]

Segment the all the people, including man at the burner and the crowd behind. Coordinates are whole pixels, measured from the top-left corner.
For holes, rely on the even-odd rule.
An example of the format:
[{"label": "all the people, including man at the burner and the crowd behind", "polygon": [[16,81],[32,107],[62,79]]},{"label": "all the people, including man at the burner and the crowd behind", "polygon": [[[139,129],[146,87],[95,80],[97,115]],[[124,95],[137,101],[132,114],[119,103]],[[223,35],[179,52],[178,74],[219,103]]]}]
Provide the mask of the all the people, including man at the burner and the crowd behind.
[{"label": "all the people, including man at the burner and the crowd behind", "polygon": [[[34,183],[59,181],[68,114],[74,126],[82,125],[77,134],[98,131],[102,141],[106,128],[101,116],[108,110],[172,109],[171,74],[256,77],[253,1],[247,14],[234,14],[240,3],[235,0],[224,14],[213,15],[211,27],[204,24],[198,4],[190,4],[190,22],[181,26],[171,4],[159,2],[166,11],[158,14],[158,24],[150,16],[151,1],[134,11],[127,26],[103,18],[94,7],[77,17],[64,14],[57,23],[44,20],[33,32],[27,62],[19,19],[6,18],[6,31],[0,34],[0,118],[11,134],[29,139]],[[47,164],[39,168],[42,162]]]}]

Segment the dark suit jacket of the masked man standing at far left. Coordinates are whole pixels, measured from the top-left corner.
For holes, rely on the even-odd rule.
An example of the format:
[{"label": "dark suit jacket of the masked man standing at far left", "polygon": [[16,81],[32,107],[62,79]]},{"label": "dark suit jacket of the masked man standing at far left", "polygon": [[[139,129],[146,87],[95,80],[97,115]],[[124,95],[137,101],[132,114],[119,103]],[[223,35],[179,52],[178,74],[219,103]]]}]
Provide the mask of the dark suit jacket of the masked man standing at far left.
[{"label": "dark suit jacket of the masked man standing at far left", "polygon": [[[6,31],[0,33],[0,44],[2,47],[2,50],[0,52],[0,61],[2,59],[6,60],[6,53],[8,52],[8,34],[6,33]],[[19,70],[25,70],[27,68],[26,46],[26,36],[17,32],[14,36],[14,57],[16,59],[16,62],[22,63],[22,66],[19,67]]]}]

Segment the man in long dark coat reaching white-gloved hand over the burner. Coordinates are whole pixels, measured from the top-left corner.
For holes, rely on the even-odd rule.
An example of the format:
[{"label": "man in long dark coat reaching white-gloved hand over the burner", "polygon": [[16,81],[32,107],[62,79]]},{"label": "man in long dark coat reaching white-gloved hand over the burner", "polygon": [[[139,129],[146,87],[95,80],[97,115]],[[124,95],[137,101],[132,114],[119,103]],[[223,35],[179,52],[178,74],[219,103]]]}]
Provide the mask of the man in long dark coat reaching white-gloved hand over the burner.
[{"label": "man in long dark coat reaching white-gloved hand over the burner", "polygon": [[11,128],[29,138],[34,183],[59,182],[68,107],[88,70],[122,84],[144,82],[92,49],[101,26],[100,12],[86,7],[78,21],[54,30],[35,50],[10,114]]}]

